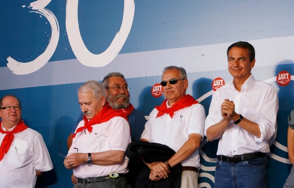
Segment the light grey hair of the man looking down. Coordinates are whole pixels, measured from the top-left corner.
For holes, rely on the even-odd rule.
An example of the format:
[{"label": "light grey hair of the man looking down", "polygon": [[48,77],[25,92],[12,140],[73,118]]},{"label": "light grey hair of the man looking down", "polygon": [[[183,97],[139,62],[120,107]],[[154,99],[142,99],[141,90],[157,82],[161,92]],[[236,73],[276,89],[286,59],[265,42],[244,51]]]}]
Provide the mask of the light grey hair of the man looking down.
[{"label": "light grey hair of the man looking down", "polygon": [[95,80],[89,80],[83,83],[81,87],[78,88],[78,93],[88,93],[88,92],[93,92],[94,97],[97,100],[100,100],[101,96],[106,98],[106,91],[103,85],[100,82],[97,82]]}]

